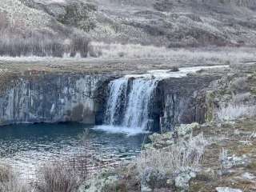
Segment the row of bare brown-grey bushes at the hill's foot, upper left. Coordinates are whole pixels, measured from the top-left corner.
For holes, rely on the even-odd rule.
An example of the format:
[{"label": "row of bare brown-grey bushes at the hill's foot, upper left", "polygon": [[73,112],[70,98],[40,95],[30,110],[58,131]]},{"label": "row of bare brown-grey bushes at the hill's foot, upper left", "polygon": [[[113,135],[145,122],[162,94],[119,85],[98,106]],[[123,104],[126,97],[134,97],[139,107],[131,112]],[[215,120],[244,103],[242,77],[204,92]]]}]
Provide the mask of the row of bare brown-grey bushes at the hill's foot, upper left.
[{"label": "row of bare brown-grey bushes at the hill's foot, upper left", "polygon": [[64,36],[56,36],[47,31],[22,32],[7,27],[0,30],[0,55],[61,58],[64,54],[69,54],[70,57],[80,54],[82,58],[86,58],[89,39],[82,34],[76,34],[70,35],[69,40],[66,43]]}]

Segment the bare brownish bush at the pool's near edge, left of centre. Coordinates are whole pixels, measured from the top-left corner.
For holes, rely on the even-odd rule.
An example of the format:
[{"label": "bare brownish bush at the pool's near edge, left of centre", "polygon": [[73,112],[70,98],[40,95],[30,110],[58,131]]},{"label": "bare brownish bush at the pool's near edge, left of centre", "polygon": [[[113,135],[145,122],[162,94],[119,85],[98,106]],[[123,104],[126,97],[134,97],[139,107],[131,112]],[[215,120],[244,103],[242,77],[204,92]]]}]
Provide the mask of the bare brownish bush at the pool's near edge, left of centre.
[{"label": "bare brownish bush at the pool's near edge, left of centre", "polygon": [[87,176],[87,160],[83,157],[65,162],[50,162],[42,166],[36,188],[40,192],[74,192]]}]

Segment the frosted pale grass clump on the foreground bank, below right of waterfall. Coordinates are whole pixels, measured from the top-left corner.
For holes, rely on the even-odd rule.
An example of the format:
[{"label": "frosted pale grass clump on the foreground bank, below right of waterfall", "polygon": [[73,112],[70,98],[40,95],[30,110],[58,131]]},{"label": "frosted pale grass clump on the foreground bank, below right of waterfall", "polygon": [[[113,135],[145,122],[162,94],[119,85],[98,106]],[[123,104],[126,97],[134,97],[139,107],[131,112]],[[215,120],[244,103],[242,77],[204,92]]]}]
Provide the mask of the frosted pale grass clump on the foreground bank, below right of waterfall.
[{"label": "frosted pale grass clump on the foreground bank, below right of waterfall", "polygon": [[135,160],[141,177],[146,170],[152,169],[159,173],[174,176],[186,171],[196,171],[200,166],[205,147],[208,142],[199,134],[190,136],[188,141],[180,141],[162,150],[145,150]]}]

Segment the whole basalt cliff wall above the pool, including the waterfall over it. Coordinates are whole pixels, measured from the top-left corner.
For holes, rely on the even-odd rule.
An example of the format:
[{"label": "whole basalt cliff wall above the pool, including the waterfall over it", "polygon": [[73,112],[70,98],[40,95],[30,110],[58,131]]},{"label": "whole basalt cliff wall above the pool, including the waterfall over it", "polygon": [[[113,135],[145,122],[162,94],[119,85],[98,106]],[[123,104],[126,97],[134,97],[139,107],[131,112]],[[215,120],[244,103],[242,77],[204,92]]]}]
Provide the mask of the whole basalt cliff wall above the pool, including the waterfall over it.
[{"label": "whole basalt cliff wall above the pool, including the waterfall over it", "polygon": [[216,74],[158,79],[30,71],[12,79],[15,83],[2,91],[0,124],[83,122],[171,130],[176,124],[205,121],[205,106],[198,102],[200,90],[218,78]]}]

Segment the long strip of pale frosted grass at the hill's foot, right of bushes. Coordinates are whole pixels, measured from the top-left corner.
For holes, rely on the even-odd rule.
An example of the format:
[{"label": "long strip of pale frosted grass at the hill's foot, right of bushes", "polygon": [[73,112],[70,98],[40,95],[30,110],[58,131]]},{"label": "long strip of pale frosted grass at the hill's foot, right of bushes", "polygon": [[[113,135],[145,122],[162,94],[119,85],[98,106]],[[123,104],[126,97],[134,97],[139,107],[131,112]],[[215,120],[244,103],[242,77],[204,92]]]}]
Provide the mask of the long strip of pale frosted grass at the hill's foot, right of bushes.
[{"label": "long strip of pale frosted grass at the hill's foot, right of bushes", "polygon": [[106,44],[91,42],[94,53],[102,58],[161,58],[166,60],[198,61],[234,64],[242,61],[256,60],[254,49],[224,48],[218,49],[170,49],[164,46],[142,46],[140,44]]}]

